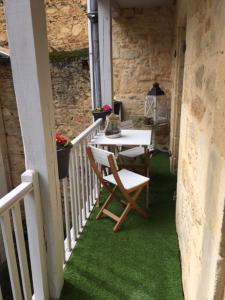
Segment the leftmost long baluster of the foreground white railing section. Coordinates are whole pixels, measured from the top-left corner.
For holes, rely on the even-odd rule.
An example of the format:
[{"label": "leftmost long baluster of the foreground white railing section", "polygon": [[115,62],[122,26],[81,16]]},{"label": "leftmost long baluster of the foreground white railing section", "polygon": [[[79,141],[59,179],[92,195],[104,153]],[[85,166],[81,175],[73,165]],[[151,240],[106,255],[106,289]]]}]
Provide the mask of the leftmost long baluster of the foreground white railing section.
[{"label": "leftmost long baluster of the foreground white railing section", "polygon": [[2,235],[3,235],[4,246],[5,246],[6,258],[7,258],[8,268],[9,268],[9,276],[11,281],[13,299],[21,300],[22,293],[21,293],[19,273],[18,273],[18,268],[16,263],[16,254],[15,254],[15,249],[13,244],[10,215],[8,211],[3,216],[1,216],[0,221],[2,227]]}]

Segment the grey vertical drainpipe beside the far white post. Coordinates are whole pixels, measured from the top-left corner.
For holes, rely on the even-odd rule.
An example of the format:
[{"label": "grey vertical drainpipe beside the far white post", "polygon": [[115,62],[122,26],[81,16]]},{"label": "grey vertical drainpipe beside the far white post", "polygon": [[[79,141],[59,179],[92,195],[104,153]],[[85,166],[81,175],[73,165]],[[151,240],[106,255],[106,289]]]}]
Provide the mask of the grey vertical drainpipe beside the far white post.
[{"label": "grey vertical drainpipe beside the far white post", "polygon": [[92,109],[101,106],[97,0],[87,1]]}]

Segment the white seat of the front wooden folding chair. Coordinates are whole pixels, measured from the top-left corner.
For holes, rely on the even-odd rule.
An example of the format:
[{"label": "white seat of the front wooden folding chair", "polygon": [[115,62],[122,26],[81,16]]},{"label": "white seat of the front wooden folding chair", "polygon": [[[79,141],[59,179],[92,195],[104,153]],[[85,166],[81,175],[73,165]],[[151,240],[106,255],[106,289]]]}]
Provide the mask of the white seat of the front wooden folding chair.
[{"label": "white seat of the front wooden folding chair", "polygon": [[[126,170],[126,169],[120,170],[117,174],[119,175],[119,178],[126,190],[132,190],[132,189],[136,188],[137,186],[145,184],[146,182],[149,181],[148,177],[139,175],[137,173],[134,173],[134,172]],[[103,178],[104,178],[104,180],[106,180],[114,185],[117,185],[113,175],[107,175],[107,176],[104,176]]]}]

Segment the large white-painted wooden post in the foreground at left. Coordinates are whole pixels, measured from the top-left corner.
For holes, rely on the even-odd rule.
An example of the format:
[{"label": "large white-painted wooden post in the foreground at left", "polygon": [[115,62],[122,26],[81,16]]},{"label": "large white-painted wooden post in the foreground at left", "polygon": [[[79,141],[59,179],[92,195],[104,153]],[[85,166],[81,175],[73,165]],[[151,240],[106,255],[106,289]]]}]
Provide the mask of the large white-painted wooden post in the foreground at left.
[{"label": "large white-painted wooden post in the foreground at left", "polygon": [[63,286],[62,207],[44,0],[4,0],[27,169],[39,174],[51,299]]}]

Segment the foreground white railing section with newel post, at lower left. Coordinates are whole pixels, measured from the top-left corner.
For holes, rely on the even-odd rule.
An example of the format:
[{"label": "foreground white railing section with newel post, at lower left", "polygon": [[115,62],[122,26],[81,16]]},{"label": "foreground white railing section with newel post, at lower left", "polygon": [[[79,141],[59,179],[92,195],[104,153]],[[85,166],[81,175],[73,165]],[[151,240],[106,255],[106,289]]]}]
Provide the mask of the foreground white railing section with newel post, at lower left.
[{"label": "foreground white railing section with newel post, at lower left", "polygon": [[[29,249],[26,247],[22,220],[26,221]],[[30,170],[23,173],[21,184],[1,198],[0,223],[13,299],[48,299],[46,249],[37,173]],[[8,299],[8,295],[3,297],[0,287],[0,300]]]}]

